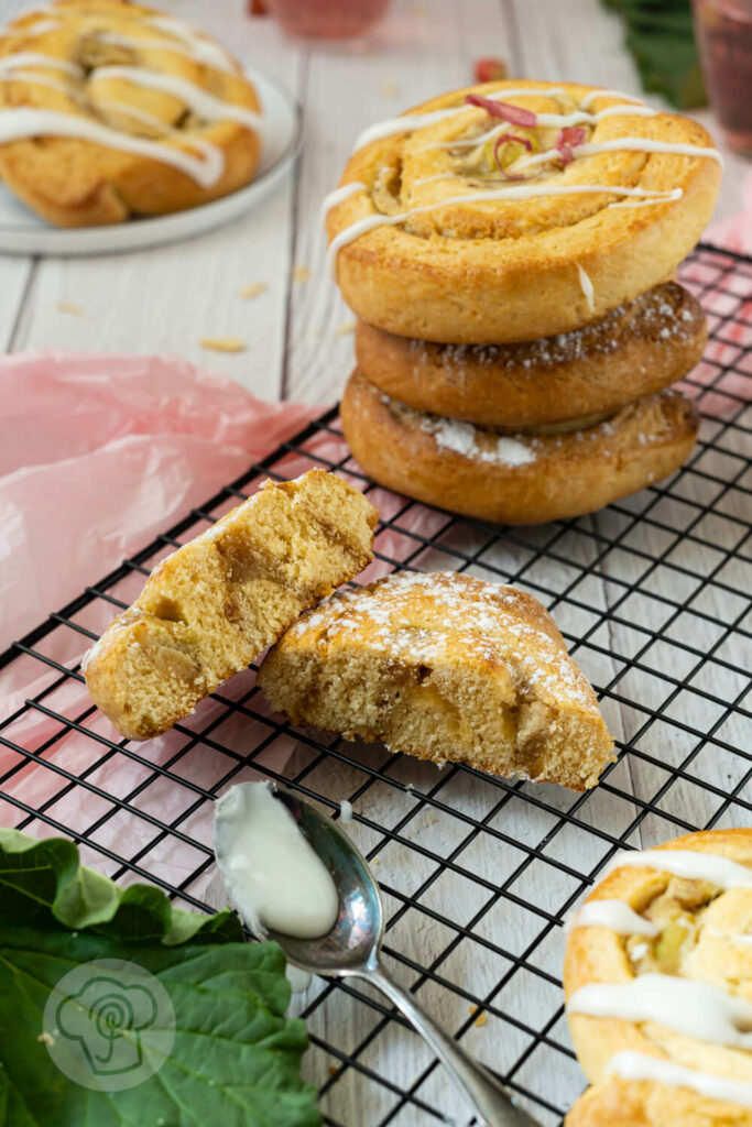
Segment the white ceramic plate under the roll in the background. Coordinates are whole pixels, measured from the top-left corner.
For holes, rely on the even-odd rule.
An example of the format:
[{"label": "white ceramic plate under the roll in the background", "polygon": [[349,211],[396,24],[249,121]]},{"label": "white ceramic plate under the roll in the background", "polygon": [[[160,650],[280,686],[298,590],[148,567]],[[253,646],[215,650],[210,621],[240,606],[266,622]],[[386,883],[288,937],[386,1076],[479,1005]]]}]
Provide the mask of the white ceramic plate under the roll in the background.
[{"label": "white ceramic plate under the roll in the background", "polygon": [[302,114],[292,95],[264,71],[247,66],[246,73],[258,91],[268,127],[258,171],[245,188],[174,215],[71,229],[52,227],[0,184],[0,252],[74,256],[141,250],[209,231],[255,207],[290,170],[302,139]]}]

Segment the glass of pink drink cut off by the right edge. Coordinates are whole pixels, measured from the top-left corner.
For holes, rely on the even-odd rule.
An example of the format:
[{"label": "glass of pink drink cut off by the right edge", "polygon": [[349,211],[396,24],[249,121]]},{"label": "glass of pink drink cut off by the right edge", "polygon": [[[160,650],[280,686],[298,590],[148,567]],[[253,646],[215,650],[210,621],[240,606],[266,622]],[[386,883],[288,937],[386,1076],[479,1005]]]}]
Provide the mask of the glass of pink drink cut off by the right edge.
[{"label": "glass of pink drink cut off by the right edge", "polygon": [[710,105],[728,144],[752,156],[752,0],[695,0]]}]

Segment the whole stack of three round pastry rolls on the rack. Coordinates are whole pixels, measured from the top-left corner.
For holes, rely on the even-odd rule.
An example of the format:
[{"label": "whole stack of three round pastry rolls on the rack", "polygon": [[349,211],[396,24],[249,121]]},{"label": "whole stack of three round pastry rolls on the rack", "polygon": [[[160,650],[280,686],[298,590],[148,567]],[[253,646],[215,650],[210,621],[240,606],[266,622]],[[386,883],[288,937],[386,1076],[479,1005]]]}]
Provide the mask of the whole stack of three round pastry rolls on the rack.
[{"label": "whole stack of three round pastry rolls on the rack", "polygon": [[326,205],[363,469],[511,524],[676,470],[698,419],[670,384],[706,323],[672,278],[719,176],[695,122],[572,83],[486,83],[366,130]]}]

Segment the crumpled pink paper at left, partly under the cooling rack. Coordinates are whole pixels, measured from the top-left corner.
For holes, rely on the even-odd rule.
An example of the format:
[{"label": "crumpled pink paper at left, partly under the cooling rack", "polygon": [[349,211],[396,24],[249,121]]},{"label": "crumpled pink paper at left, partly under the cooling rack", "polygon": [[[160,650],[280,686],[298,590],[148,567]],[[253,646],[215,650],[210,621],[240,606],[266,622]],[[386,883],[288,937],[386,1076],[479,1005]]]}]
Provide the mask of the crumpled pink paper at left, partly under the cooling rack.
[{"label": "crumpled pink paper at left, partly under the cooling rack", "polygon": [[[0,650],[244,473],[317,411],[298,403],[262,402],[233,381],[176,357],[41,352],[0,358]],[[135,589],[140,583],[135,577]],[[133,583],[126,595],[114,593],[130,601],[132,588]],[[97,600],[79,621],[99,633],[116,610]],[[85,635],[55,630],[39,649],[73,667],[88,645]],[[0,673],[0,719],[12,716],[56,676],[33,658],[11,663]],[[233,692],[242,687],[239,678]],[[86,689],[73,681],[45,702],[71,719],[91,704]],[[220,706],[206,702],[201,721],[218,711]],[[120,740],[99,713],[85,725],[107,740]],[[249,727],[247,718],[244,722],[237,716],[221,738],[227,746],[247,751]],[[116,754],[99,767],[106,744],[78,733],[59,738],[59,721],[43,711],[28,711],[2,734],[26,751],[41,749],[46,762],[73,777],[95,767],[89,781],[120,796],[149,775],[150,764],[167,761],[186,740],[170,733],[139,745],[142,764]],[[205,753],[193,782],[215,782],[228,770],[223,758],[220,769]],[[20,762],[18,753],[0,747],[1,772]],[[60,773],[26,763],[6,780],[3,791],[30,808],[61,792],[48,813],[78,829],[112,807],[107,797],[81,788],[62,795],[64,783]],[[145,793],[162,818],[169,818],[186,795],[195,800],[195,791],[166,779]],[[0,801],[0,823],[12,825],[23,817],[14,804]],[[153,828],[132,815],[130,819],[129,848],[135,850]],[[97,837],[103,845],[117,849],[110,840],[116,824],[117,818],[106,820]],[[29,829],[41,836],[55,833],[42,822]],[[177,879],[191,859],[178,849],[170,864]]]}]

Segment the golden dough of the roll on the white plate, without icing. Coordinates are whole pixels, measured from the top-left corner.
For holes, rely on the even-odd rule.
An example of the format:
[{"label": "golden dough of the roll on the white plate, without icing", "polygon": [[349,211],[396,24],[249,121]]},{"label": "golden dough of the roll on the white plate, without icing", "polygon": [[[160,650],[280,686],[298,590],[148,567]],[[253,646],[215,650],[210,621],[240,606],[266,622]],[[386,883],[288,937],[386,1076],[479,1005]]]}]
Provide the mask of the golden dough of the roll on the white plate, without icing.
[{"label": "golden dough of the roll on the white plate, without icing", "polygon": [[[148,23],[162,16],[157,9],[124,0],[57,0],[48,9],[20,16],[0,37],[0,59],[32,52],[82,68],[76,76],[29,64],[7,76],[0,82],[0,109],[30,107],[72,114],[130,137],[159,141],[165,149],[178,149],[194,158],[201,156],[196,145],[210,144],[222,162],[214,183],[202,187],[185,171],[160,160],[88,139],[44,135],[0,142],[2,180],[51,223],[91,227],[121,223],[131,215],[163,215],[216,199],[253,179],[260,139],[247,124],[227,118],[204,121],[174,92],[122,77],[97,79],[101,66],[144,68],[259,112],[254,86],[236,60],[228,54],[228,69],[220,70],[189,57],[174,33]],[[108,42],[108,36],[115,42]],[[127,39],[127,45],[117,43],[117,37]],[[171,42],[175,50],[165,50],[163,44]],[[202,36],[202,42],[216,46],[209,36]],[[33,73],[39,73],[42,81],[33,81]],[[148,117],[131,116],[115,106],[127,106],[133,114]],[[150,124],[149,119],[156,121]]]}]

